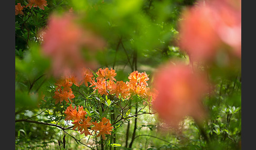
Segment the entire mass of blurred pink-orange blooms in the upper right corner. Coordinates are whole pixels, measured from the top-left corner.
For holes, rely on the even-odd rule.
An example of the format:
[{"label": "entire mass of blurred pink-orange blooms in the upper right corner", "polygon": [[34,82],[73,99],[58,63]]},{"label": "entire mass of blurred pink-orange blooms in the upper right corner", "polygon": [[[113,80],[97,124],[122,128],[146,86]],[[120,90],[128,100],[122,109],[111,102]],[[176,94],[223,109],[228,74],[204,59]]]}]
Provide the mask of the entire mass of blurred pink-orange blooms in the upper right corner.
[{"label": "entire mass of blurred pink-orange blooms in the upper right corner", "polygon": [[241,0],[200,1],[182,18],[179,45],[192,60],[213,61],[224,45],[241,58]]}]

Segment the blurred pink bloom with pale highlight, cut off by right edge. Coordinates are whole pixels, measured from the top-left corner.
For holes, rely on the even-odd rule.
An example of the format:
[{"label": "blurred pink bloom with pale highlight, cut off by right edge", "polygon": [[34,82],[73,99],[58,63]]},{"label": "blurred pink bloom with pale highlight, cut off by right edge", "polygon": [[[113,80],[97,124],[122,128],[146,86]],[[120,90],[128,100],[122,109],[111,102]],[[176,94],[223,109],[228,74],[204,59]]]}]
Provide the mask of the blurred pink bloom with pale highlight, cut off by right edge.
[{"label": "blurred pink bloom with pale highlight, cut off by right edge", "polygon": [[231,47],[231,53],[241,58],[241,0],[215,0],[211,8],[214,30]]}]

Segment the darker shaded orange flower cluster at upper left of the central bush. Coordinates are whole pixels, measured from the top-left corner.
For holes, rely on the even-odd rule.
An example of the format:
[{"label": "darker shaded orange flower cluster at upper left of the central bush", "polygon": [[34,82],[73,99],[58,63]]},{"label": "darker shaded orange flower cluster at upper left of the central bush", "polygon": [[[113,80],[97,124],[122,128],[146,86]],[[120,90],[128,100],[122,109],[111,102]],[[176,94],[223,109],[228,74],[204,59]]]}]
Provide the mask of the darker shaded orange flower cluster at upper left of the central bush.
[{"label": "darker shaded orange flower cluster at upper left of the central bush", "polygon": [[65,100],[68,103],[69,102],[68,99],[70,100],[74,99],[75,95],[73,94],[71,86],[75,84],[77,87],[79,87],[81,84],[84,83],[86,87],[88,87],[87,82],[91,82],[92,77],[93,77],[92,72],[87,68],[83,68],[81,80],[79,80],[79,78],[76,78],[74,75],[65,76],[60,80],[58,80],[55,83],[57,87],[56,87],[55,95],[53,96],[53,98],[56,99],[55,104],[57,104],[58,102],[61,103],[63,100]]}]

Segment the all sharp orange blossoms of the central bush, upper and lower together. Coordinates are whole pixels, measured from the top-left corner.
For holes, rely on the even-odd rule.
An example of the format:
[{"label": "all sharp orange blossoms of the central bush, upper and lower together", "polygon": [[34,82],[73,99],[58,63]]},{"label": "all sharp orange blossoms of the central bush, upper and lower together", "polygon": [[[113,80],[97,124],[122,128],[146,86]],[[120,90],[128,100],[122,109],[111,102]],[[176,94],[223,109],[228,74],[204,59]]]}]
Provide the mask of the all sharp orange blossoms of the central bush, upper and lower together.
[{"label": "all sharp orange blossoms of the central bush, upper and lower together", "polygon": [[[99,69],[96,74],[96,79],[92,79],[93,73],[89,69],[83,68],[82,79],[70,75],[64,76],[58,80],[55,83],[57,87],[53,97],[56,99],[55,103],[62,102],[63,100],[68,103],[68,99],[71,100],[75,97],[71,89],[72,85],[75,84],[79,87],[84,83],[86,87],[88,87],[88,82],[91,83],[89,88],[93,87],[93,89],[95,91],[97,90],[101,95],[115,94],[116,97],[121,95],[122,98],[129,98],[131,95],[137,94],[149,100],[155,99],[156,97],[156,92],[151,92],[150,88],[147,87],[149,78],[145,72],[132,72],[128,77],[129,82],[116,81],[114,78],[116,76],[114,69]],[[97,81],[95,82],[94,80]],[[85,136],[92,135],[92,133],[88,131],[88,128],[94,125],[91,130],[99,131],[97,137],[102,136],[103,140],[105,140],[106,134],[111,135],[113,126],[111,126],[110,120],[103,117],[102,121],[99,123],[96,121],[91,122],[92,118],[90,116],[86,117],[87,112],[83,110],[83,106],[78,106],[77,110],[76,106],[73,108],[72,104],[70,104],[64,113],[66,114],[65,120],[73,120],[73,130],[77,128],[80,134],[84,134]]]}]

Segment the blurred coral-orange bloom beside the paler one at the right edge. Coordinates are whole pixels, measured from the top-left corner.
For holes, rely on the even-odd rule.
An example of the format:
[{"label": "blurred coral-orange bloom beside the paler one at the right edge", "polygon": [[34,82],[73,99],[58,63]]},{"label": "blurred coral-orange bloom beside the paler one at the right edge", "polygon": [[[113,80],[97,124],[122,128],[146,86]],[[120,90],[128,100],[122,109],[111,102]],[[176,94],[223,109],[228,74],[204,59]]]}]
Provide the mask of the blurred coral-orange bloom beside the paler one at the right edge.
[{"label": "blurred coral-orange bloom beside the paler one at the right edge", "polygon": [[211,60],[220,44],[212,27],[209,7],[191,7],[183,12],[180,23],[180,47],[193,60]]}]

